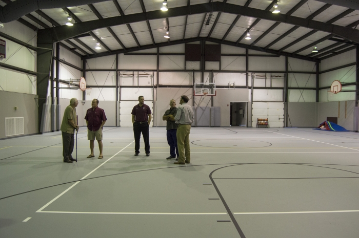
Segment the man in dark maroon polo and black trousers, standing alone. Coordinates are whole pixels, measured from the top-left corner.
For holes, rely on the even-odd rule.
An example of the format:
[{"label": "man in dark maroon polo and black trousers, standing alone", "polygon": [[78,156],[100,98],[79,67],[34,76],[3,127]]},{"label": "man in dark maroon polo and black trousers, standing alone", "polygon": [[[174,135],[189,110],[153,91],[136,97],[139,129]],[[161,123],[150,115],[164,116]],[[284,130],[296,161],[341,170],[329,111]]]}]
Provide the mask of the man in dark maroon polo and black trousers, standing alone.
[{"label": "man in dark maroon polo and black trousers, standing alone", "polygon": [[145,103],[145,97],[138,97],[138,104],[132,109],[133,134],[135,138],[135,156],[139,154],[139,138],[141,133],[145,142],[146,156],[150,156],[149,125],[152,119],[152,112]]}]

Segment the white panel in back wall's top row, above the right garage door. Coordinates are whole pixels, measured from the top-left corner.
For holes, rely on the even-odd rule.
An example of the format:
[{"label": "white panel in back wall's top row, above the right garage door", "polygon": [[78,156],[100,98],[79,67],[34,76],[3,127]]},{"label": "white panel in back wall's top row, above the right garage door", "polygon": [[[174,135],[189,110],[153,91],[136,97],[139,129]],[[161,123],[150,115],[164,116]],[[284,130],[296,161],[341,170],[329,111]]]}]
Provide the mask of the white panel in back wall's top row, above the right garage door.
[{"label": "white panel in back wall's top row, above the right garage door", "polygon": [[285,71],[286,57],[249,57],[250,71]]}]

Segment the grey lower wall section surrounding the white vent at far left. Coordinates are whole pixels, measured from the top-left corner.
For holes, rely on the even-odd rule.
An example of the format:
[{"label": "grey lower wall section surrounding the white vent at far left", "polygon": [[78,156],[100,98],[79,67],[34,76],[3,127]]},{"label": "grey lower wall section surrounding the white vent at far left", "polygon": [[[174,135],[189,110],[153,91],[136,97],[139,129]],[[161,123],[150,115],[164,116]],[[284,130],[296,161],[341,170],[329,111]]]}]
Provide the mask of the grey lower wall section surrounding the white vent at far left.
[{"label": "grey lower wall section surrounding the white vent at far left", "polygon": [[[24,117],[24,135],[38,133],[37,95],[0,91],[0,139],[5,135],[6,117]],[[17,110],[14,107],[17,107]]]}]

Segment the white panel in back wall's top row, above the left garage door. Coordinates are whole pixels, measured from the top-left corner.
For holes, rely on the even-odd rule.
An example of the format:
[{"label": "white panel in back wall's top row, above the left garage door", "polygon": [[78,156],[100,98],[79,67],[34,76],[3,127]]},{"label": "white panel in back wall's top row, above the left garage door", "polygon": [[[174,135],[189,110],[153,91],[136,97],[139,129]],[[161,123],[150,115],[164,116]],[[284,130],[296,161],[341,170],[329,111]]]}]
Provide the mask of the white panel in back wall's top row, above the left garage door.
[{"label": "white panel in back wall's top row, above the left garage door", "polygon": [[156,55],[118,55],[118,69],[123,70],[156,70]]}]

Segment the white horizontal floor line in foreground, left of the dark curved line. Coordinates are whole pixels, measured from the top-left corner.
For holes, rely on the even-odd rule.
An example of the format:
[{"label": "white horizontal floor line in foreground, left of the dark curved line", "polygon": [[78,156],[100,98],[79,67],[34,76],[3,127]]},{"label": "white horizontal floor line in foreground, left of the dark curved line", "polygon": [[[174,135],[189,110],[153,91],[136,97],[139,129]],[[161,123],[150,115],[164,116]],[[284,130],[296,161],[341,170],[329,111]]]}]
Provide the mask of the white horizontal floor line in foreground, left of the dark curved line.
[{"label": "white horizontal floor line in foreground, left of the dark curved line", "polygon": [[92,211],[40,211],[45,213],[119,214],[119,215],[227,215],[226,212],[92,212]]}]

